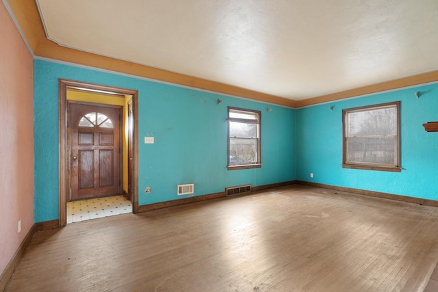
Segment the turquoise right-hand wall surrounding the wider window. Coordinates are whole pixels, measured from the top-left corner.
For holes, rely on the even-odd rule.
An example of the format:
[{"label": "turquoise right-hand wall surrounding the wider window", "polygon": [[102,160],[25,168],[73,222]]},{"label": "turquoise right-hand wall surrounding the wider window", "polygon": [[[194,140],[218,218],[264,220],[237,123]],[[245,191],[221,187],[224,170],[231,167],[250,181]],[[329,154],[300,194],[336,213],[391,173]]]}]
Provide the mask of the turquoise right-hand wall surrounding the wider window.
[{"label": "turquoise right-hand wall surrounding the wider window", "polygon": [[[342,109],[391,101],[401,101],[402,172],[342,168]],[[438,84],[298,109],[296,119],[298,180],[438,200],[438,133],[422,127],[438,120]]]}]

